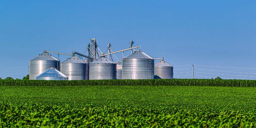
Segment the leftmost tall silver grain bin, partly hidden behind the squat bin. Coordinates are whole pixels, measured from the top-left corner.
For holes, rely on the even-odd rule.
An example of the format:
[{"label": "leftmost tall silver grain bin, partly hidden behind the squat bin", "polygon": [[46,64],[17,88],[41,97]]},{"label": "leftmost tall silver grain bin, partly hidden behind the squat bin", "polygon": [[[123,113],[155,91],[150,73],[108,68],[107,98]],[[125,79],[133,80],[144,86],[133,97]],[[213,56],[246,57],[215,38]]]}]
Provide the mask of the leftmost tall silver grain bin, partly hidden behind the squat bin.
[{"label": "leftmost tall silver grain bin, partly hidden behind the squat bin", "polygon": [[53,67],[60,71],[60,61],[51,54],[44,52],[29,60],[29,79],[36,79],[36,76]]}]

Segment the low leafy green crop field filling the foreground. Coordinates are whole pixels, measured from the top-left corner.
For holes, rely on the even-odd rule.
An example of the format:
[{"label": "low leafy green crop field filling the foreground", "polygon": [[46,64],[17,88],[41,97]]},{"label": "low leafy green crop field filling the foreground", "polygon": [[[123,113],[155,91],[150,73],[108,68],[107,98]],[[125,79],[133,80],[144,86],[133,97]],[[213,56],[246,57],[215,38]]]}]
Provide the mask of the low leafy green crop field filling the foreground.
[{"label": "low leafy green crop field filling the foreground", "polygon": [[255,87],[0,86],[2,128],[255,127],[255,108]]}]

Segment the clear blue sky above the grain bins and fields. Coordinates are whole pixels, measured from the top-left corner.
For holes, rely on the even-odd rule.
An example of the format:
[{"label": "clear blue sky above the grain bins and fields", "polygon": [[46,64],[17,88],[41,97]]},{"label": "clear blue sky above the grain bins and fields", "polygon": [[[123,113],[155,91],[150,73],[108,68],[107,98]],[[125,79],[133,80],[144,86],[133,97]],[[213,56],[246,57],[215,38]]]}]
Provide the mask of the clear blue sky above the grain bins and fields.
[{"label": "clear blue sky above the grain bins and fields", "polygon": [[[90,38],[96,38],[104,51],[108,43],[117,51],[128,48],[133,40],[150,57],[165,57],[174,69],[192,68],[176,66],[191,64],[256,68],[256,1],[2,0],[0,77],[26,76],[29,60],[44,50],[71,53],[75,48],[84,52]],[[60,61],[68,57],[60,55]],[[256,69],[194,68],[231,71],[195,70],[215,74],[195,73],[199,76],[194,78],[256,79],[244,77],[256,76],[252,74]],[[191,75],[190,72],[174,70],[174,77]]]}]

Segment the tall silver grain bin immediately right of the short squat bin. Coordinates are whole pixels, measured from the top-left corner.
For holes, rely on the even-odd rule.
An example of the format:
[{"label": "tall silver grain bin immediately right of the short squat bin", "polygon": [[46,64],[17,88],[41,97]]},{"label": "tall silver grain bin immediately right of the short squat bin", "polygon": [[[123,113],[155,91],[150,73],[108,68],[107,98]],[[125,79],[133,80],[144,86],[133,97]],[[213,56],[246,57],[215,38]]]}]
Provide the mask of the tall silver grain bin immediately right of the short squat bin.
[{"label": "tall silver grain bin immediately right of the short squat bin", "polygon": [[68,80],[85,80],[87,79],[88,63],[72,56],[60,63],[60,72],[68,77]]}]

